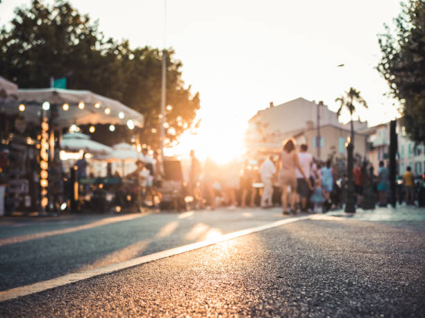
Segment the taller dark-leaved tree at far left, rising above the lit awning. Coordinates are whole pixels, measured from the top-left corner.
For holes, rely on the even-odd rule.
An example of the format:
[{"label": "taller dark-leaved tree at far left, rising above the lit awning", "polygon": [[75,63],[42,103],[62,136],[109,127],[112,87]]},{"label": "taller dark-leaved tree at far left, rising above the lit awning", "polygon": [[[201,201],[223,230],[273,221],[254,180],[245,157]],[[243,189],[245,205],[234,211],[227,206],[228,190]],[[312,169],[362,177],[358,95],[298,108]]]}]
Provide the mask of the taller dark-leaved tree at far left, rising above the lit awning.
[{"label": "taller dark-leaved tree at far left, rising above the lit awning", "polygon": [[0,32],[0,67],[21,88],[49,87],[51,76],[66,76],[69,88],[119,99],[124,74],[117,46],[69,3],[49,7],[33,0],[30,8],[15,9],[12,28]]}]

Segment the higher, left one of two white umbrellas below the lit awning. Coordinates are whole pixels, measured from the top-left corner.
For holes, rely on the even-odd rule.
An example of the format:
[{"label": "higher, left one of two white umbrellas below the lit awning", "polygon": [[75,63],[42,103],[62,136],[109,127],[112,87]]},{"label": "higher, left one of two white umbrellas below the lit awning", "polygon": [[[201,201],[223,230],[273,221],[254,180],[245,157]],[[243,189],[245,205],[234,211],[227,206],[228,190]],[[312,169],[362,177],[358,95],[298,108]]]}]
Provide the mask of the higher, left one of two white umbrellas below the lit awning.
[{"label": "higher, left one of two white umbrellas below the lit awning", "polygon": [[109,154],[113,148],[97,141],[92,141],[87,134],[74,132],[72,134],[64,134],[60,141],[60,148],[68,151],[84,150],[92,154]]}]

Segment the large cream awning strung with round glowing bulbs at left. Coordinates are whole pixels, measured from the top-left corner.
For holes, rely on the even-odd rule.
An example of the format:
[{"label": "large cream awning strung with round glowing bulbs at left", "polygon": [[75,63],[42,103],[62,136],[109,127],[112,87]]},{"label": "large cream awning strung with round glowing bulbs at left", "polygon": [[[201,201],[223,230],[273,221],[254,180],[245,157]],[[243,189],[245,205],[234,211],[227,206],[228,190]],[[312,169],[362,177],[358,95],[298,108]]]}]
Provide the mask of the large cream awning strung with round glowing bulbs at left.
[{"label": "large cream awning strung with round glowing bulbs at left", "polygon": [[[144,118],[139,112],[123,105],[118,100],[94,94],[91,91],[72,89],[19,89],[19,105],[27,121],[40,122],[40,114],[49,117],[57,109],[54,123],[58,127],[76,125],[113,124],[127,125],[130,129],[143,127]],[[49,105],[46,103],[48,102]],[[65,105],[67,104],[67,105]],[[43,106],[44,105],[44,106]],[[18,105],[6,107],[8,114],[19,112]]]}]

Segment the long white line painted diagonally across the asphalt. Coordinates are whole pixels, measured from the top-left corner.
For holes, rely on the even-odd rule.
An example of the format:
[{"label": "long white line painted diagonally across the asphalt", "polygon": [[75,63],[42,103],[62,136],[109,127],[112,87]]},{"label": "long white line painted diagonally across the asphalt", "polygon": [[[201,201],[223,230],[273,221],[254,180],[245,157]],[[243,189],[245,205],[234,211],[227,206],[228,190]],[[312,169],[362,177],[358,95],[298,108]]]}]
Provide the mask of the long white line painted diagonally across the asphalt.
[{"label": "long white line painted diagonally across the asphalt", "polygon": [[233,233],[224,234],[222,236],[213,238],[211,240],[203,240],[201,242],[183,245],[181,247],[175,247],[174,249],[158,251],[157,253],[149,254],[146,256],[140,256],[137,258],[133,258],[131,260],[126,260],[125,262],[122,262],[122,263],[110,264],[103,267],[94,268],[92,270],[85,270],[83,272],[67,274],[65,276],[60,276],[56,279],[49,279],[48,281],[40,281],[39,283],[33,283],[31,285],[12,288],[10,290],[3,290],[0,292],[0,302],[6,301],[9,299],[15,299],[17,297],[23,297],[29,294],[34,294],[36,292],[42,292],[44,290],[49,290],[51,288],[60,287],[70,283],[75,283],[76,281],[82,281],[83,279],[90,279],[94,276],[109,274],[112,272],[117,272],[119,270],[125,270],[128,267],[142,265],[144,263],[152,262],[153,260],[167,258],[169,256],[181,254],[186,251],[193,251],[194,249],[200,249],[201,247],[206,247],[208,245],[214,245],[216,243],[224,242],[226,240],[232,240],[233,238],[240,238],[241,236],[246,236],[251,233],[265,231],[266,229],[273,229],[274,227],[280,227],[283,224],[288,224],[288,223],[297,222],[301,220],[307,220],[307,219],[310,219],[311,217],[312,215],[306,215],[306,216],[300,216],[298,218],[288,218],[285,220],[279,220],[269,224],[260,225],[259,227],[251,227],[251,229],[243,229],[240,231],[235,231]]}]

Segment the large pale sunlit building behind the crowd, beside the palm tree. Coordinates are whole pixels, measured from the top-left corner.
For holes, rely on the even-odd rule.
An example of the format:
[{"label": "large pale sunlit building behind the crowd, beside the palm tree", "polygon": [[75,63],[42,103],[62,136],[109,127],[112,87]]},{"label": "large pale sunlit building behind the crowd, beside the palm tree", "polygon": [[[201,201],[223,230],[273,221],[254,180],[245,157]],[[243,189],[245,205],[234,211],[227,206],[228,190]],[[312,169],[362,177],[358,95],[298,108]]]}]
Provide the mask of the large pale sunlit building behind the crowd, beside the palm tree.
[{"label": "large pale sunlit building behind the crowd, beside the palm tree", "polygon": [[[316,143],[317,110],[319,110],[319,131],[321,140]],[[355,127],[365,127],[367,123],[354,122]],[[349,136],[349,125],[342,125],[338,115],[323,103],[297,98],[288,103],[270,106],[259,110],[249,120],[245,135],[247,150],[251,152],[276,152],[281,150],[286,138],[293,137],[297,143],[307,143],[309,152],[316,157],[316,144],[321,148],[320,159],[328,159],[333,154],[345,154],[344,143]],[[355,135],[355,151],[365,155],[365,136]]]}]

